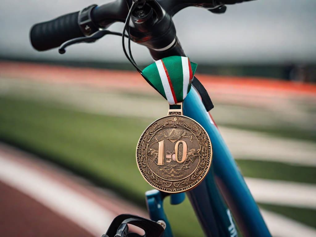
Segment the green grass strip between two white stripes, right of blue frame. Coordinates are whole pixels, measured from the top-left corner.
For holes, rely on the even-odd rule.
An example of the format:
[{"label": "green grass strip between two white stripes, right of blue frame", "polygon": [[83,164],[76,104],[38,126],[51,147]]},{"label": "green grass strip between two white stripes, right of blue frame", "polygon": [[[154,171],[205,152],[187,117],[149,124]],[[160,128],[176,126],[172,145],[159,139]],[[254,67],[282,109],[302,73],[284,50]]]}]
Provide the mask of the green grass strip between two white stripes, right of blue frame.
[{"label": "green grass strip between two white stripes, right of blue frame", "polygon": [[246,177],[316,183],[316,168],[270,161],[236,160]]}]

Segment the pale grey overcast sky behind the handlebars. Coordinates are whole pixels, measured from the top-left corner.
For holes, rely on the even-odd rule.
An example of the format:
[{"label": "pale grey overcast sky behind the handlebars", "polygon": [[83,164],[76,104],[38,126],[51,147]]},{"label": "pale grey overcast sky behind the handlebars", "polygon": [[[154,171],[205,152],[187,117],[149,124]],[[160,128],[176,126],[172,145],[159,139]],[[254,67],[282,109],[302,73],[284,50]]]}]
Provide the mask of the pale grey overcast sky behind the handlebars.
[{"label": "pale grey overcast sky behind the handlebars", "polygon": [[[65,55],[59,55],[57,49],[37,52],[29,43],[34,23],[105,2],[1,0],[0,56],[127,62],[118,36],[70,46]],[[186,54],[197,63],[316,63],[315,10],[315,0],[257,0],[228,6],[223,15],[190,7],[173,20]],[[111,29],[120,31],[122,23]],[[151,60],[143,46],[133,44],[132,48],[137,62]]]}]

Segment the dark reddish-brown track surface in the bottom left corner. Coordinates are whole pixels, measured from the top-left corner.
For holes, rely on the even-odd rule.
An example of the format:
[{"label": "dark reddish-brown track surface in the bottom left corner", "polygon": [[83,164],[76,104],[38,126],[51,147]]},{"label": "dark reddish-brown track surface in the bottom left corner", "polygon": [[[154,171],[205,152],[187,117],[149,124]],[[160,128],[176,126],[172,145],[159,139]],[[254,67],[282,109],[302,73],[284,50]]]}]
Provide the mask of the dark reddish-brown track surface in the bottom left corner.
[{"label": "dark reddish-brown track surface in the bottom left corner", "polygon": [[0,182],[0,236],[93,236],[20,191]]}]

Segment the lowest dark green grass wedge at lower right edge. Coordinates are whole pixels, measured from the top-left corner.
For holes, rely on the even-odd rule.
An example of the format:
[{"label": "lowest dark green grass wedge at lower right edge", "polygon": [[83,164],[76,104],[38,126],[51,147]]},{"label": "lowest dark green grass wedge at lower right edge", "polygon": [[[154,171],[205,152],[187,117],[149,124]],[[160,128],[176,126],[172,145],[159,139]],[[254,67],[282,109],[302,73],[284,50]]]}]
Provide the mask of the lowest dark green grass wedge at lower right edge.
[{"label": "lowest dark green grass wedge at lower right edge", "polygon": [[298,222],[305,223],[311,227],[316,228],[316,210],[289,207],[289,206],[276,206],[270,204],[259,204],[260,208],[280,213]]}]

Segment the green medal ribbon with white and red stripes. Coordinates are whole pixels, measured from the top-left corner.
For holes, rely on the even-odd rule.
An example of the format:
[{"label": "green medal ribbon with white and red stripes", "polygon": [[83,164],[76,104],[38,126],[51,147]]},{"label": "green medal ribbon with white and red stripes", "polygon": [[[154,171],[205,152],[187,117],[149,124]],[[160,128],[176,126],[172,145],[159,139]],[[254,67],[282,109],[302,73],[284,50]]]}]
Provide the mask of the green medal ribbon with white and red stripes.
[{"label": "green medal ribbon with white and red stripes", "polygon": [[196,68],[197,64],[187,57],[171,56],[150,64],[142,74],[169,104],[174,105],[189,93]]}]

